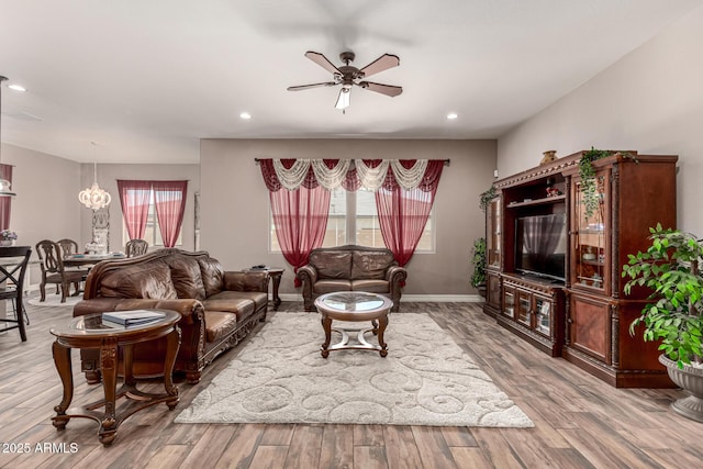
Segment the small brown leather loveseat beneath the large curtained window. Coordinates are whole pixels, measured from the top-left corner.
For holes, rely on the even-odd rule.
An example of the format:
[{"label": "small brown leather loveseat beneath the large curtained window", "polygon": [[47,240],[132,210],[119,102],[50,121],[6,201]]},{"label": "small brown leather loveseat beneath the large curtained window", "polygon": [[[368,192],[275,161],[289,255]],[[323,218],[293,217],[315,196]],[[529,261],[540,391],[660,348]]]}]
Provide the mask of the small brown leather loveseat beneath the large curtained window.
[{"label": "small brown leather loveseat beneath the large curtained window", "polygon": [[390,249],[346,245],[313,249],[297,277],[302,282],[305,311],[315,311],[315,298],[324,293],[367,291],[389,297],[391,311],[397,312],[408,272]]}]

